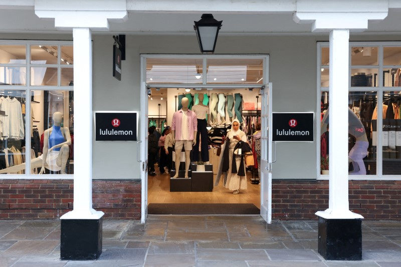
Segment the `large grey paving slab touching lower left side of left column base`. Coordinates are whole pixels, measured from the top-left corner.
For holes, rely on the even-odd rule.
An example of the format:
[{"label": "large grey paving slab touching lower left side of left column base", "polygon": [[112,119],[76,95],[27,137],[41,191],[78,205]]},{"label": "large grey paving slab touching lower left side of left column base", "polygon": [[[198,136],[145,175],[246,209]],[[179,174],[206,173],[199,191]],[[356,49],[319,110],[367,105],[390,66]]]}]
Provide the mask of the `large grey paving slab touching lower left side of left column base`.
[{"label": "large grey paving slab touching lower left side of left column base", "polygon": [[48,255],[58,245],[58,240],[19,240],[3,252],[7,256]]}]

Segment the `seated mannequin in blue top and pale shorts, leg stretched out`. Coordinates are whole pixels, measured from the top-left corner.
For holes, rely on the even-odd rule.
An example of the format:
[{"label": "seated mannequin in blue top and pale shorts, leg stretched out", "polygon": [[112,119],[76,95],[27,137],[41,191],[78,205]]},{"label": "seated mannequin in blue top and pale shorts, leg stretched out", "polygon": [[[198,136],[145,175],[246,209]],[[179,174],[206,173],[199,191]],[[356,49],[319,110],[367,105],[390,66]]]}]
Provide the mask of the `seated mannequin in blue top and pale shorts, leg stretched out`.
[{"label": "seated mannequin in blue top and pale shorts, leg stretched out", "polygon": [[[31,169],[42,167],[39,174],[45,172],[45,168],[51,171],[60,171],[66,174],[65,169],[70,153],[71,144],[70,130],[68,127],[61,128],[63,114],[55,112],[53,114],[53,126],[45,130],[43,142],[43,154],[31,160]],[[49,148],[50,147],[50,148]],[[25,163],[0,170],[0,173],[14,173],[25,170]]]}]

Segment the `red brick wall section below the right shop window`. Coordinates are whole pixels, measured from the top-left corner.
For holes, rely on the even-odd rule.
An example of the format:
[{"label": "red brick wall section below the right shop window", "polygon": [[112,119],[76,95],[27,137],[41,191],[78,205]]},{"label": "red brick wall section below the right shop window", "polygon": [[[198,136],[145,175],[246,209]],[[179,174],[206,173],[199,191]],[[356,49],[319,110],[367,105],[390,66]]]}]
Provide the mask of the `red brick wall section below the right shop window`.
[{"label": "red brick wall section below the right shop window", "polygon": [[[365,219],[401,219],[401,181],[349,181],[349,208]],[[272,217],[316,219],[328,208],[328,180],[273,180]]]}]

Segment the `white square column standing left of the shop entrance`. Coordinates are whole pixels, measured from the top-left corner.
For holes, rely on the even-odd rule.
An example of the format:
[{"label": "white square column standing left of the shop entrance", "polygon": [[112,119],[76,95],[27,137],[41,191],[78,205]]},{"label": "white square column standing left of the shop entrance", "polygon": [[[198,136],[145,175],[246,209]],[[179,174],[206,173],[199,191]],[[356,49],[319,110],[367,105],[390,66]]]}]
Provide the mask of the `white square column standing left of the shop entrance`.
[{"label": "white square column standing left of the shop entrance", "polygon": [[92,40],[74,28],[74,209],[61,219],[99,219],[92,208]]}]

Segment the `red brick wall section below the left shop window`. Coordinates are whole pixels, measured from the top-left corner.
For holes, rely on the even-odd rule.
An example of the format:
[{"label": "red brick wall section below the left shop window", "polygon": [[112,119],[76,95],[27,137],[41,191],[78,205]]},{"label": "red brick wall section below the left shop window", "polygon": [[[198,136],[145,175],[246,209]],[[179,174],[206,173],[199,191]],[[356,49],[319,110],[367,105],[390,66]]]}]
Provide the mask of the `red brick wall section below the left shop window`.
[{"label": "red brick wall section below the left shop window", "polygon": [[[93,208],[105,218],[140,219],[138,180],[93,180]],[[0,218],[57,218],[73,208],[73,180],[0,180]]]}]

